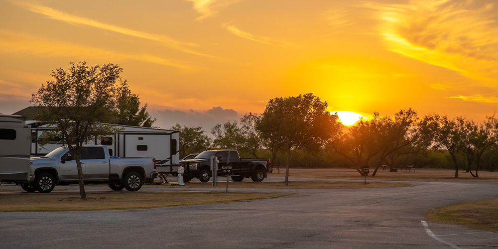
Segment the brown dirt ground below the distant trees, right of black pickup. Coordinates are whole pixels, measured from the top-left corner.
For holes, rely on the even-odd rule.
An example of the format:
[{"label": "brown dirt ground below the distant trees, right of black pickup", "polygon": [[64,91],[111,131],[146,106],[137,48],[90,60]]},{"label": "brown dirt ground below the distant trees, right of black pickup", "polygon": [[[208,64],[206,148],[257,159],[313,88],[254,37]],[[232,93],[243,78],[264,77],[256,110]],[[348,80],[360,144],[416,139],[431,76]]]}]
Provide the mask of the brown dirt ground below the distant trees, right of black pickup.
[{"label": "brown dirt ground below the distant trees, right of black pickup", "polygon": [[[451,169],[411,169],[405,172],[398,169],[397,172],[385,171],[382,168],[377,170],[375,176],[372,176],[374,168],[370,168],[370,174],[367,180],[386,180],[386,181],[475,181],[475,182],[497,182],[498,172],[479,171],[479,177],[473,177],[465,170],[458,171],[458,178],[455,178],[455,170]],[[475,174],[475,171],[474,171]],[[285,168],[273,168],[271,177],[285,177]],[[289,177],[300,178],[324,178],[324,179],[364,179],[363,176],[354,168],[291,168]]]}]

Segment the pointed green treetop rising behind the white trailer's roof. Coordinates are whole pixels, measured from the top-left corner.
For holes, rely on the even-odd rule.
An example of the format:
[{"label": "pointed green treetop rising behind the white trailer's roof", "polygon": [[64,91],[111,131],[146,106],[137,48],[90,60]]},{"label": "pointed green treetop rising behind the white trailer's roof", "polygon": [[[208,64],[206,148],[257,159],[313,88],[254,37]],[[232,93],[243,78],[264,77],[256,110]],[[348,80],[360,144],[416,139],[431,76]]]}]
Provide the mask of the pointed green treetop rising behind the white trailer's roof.
[{"label": "pointed green treetop rising behind the white trailer's roof", "polygon": [[[124,81],[126,84],[126,80]],[[147,112],[147,104],[140,108],[140,100],[138,95],[132,94],[125,87],[121,89],[118,98],[117,118],[126,120],[128,125],[151,127],[156,119],[152,119]]]}]

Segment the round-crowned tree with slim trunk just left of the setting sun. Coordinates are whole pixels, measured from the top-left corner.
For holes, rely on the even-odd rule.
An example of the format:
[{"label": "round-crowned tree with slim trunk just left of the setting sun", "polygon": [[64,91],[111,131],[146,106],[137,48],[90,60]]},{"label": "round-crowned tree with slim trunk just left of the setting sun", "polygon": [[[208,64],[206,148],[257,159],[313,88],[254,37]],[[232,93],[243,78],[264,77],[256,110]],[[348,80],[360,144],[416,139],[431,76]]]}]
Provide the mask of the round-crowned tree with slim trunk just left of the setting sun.
[{"label": "round-crowned tree with slim trunk just left of the setting sun", "polygon": [[289,185],[290,152],[294,148],[318,151],[330,139],[338,122],[327,112],[327,102],[313,94],[271,99],[256,124],[264,139],[287,152],[285,186]]}]

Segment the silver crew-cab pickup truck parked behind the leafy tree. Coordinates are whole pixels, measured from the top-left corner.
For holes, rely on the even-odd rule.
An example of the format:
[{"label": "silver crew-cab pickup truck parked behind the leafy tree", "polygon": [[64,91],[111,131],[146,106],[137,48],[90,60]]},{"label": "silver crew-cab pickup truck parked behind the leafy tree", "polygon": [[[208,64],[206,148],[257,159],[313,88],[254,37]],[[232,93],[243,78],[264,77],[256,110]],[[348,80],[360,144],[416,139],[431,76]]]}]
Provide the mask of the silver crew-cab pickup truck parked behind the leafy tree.
[{"label": "silver crew-cab pickup truck parked behind the leafy tree", "polygon": [[[157,176],[156,160],[152,157],[110,157],[107,146],[85,145],[80,154],[83,179],[87,183],[108,183],[113,190],[137,191],[145,181]],[[77,184],[76,160],[64,147],[43,157],[31,158],[30,180],[21,182],[27,192],[48,193],[56,184]]]}]

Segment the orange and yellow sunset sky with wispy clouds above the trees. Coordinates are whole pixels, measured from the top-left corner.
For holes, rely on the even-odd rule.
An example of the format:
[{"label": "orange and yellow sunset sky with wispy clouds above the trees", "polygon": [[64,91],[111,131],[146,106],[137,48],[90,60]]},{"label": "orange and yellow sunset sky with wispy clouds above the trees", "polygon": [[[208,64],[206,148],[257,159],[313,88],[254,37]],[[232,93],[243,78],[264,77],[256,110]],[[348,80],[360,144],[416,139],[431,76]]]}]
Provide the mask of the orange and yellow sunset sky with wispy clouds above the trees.
[{"label": "orange and yellow sunset sky with wispy clouds above the trees", "polygon": [[496,0],[0,0],[0,113],[70,62],[114,63],[154,125],[313,93],[329,111],[498,110]]}]

